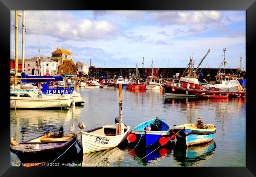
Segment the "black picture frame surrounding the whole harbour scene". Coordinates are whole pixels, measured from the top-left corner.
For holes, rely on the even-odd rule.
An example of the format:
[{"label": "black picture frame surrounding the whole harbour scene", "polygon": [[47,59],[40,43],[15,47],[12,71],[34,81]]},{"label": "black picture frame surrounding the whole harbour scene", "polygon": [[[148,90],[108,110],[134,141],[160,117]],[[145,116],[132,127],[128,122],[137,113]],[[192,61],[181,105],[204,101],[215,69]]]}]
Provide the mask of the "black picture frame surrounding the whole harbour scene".
[{"label": "black picture frame surrounding the whole harbour scene", "polygon": [[[255,176],[256,175],[256,153],[255,153],[255,128],[254,128],[254,103],[253,103],[253,76],[252,67],[255,64],[255,41],[256,41],[256,2],[255,0],[130,0],[130,1],[93,1],[93,0],[1,0],[0,2],[1,21],[1,62],[2,62],[2,116],[1,116],[1,146],[0,146],[0,175],[2,176],[46,176],[57,173],[60,175],[93,175],[87,170],[93,170],[99,175],[113,174],[114,171],[127,175],[177,175],[177,176]],[[246,167],[244,168],[11,168],[9,166],[9,68],[10,57],[10,10],[246,10],[246,58],[247,65],[247,119],[246,119]],[[4,87],[3,87],[4,85]],[[4,89],[3,89],[4,88]],[[219,147],[221,148],[221,147]],[[139,173],[137,170],[139,169]],[[83,171],[81,171],[83,170]],[[86,170],[86,171],[84,171]],[[136,170],[136,171],[135,171]],[[105,171],[105,172],[104,172]],[[111,172],[109,172],[111,171]],[[124,173],[127,171],[128,173]],[[150,171],[150,172],[149,172]],[[130,173],[129,173],[130,172]],[[117,173],[116,173],[117,174]]]}]

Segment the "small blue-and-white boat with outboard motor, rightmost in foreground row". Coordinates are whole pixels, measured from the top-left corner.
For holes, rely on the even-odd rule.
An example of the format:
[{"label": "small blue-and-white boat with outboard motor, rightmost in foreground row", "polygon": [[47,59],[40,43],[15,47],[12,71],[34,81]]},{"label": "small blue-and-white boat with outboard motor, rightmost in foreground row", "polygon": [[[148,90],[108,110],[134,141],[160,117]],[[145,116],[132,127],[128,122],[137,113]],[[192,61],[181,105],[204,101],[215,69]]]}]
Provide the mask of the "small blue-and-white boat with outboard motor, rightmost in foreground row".
[{"label": "small blue-and-white boat with outboard motor, rightmost in foreground row", "polygon": [[213,124],[204,124],[202,118],[198,117],[197,124],[174,126],[173,131],[176,133],[177,143],[193,146],[213,140],[216,127]]}]

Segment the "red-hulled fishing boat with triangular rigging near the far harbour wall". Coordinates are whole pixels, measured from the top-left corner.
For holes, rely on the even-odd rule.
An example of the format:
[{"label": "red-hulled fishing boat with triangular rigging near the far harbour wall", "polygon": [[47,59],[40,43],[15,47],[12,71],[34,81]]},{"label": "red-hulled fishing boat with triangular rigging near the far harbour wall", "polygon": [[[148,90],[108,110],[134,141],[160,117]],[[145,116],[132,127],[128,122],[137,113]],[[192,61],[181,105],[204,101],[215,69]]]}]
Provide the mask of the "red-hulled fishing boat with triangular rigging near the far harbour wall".
[{"label": "red-hulled fishing boat with triangular rigging near the far harbour wall", "polygon": [[146,85],[142,81],[140,75],[139,75],[139,69],[138,65],[136,65],[136,68],[134,70],[133,78],[126,83],[126,88],[127,89],[145,89]]}]

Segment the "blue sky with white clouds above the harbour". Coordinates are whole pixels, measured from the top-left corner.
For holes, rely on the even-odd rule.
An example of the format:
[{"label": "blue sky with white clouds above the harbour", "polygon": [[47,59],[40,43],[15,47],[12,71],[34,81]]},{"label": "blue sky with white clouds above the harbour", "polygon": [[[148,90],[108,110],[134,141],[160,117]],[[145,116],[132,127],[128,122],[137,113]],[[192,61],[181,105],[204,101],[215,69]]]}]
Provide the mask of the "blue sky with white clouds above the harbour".
[{"label": "blue sky with white clouds above the harbour", "polygon": [[[15,11],[10,11],[10,58],[15,58]],[[18,13],[22,14],[19,10]],[[18,58],[22,55],[22,17],[18,17]],[[57,47],[72,60],[96,67],[225,68],[246,70],[246,11],[60,10],[25,11],[25,59],[50,57]]]}]

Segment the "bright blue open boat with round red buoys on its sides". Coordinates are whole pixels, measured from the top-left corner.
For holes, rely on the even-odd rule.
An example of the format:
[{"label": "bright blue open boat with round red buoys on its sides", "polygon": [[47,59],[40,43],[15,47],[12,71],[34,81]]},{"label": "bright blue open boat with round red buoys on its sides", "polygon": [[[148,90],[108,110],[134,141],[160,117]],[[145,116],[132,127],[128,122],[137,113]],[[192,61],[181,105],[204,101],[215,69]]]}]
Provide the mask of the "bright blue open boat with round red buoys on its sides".
[{"label": "bright blue open boat with round red buoys on its sides", "polygon": [[170,135],[171,127],[163,119],[157,117],[134,127],[128,135],[128,140],[139,142],[140,145],[145,144],[146,147],[158,143],[165,145]]}]

